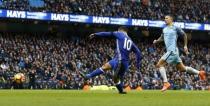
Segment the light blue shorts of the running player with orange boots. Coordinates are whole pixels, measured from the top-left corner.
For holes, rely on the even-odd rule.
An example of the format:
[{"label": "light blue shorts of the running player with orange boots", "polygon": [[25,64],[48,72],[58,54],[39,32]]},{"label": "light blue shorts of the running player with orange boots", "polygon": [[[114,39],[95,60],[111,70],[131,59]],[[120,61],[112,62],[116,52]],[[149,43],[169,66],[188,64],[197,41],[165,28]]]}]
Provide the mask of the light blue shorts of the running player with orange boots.
[{"label": "light blue shorts of the running player with orange boots", "polygon": [[168,64],[178,64],[182,62],[179,57],[179,52],[174,53],[172,51],[168,51],[161,57],[161,59],[165,60]]}]

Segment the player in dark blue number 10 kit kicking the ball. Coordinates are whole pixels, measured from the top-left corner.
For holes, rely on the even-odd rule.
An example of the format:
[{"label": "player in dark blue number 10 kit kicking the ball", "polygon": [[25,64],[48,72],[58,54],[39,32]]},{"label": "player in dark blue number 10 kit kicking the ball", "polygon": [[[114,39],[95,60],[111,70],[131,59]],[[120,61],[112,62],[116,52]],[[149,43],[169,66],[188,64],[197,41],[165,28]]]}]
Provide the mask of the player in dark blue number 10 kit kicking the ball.
[{"label": "player in dark blue number 10 kit kicking the ball", "polygon": [[99,37],[109,37],[113,36],[116,39],[116,50],[115,56],[112,60],[105,63],[102,67],[94,70],[90,74],[84,74],[79,71],[80,75],[86,80],[97,75],[103,74],[105,71],[114,70],[113,80],[116,84],[120,94],[126,94],[123,91],[123,76],[128,70],[129,65],[129,54],[133,51],[136,54],[136,67],[140,68],[141,52],[138,47],[133,43],[131,38],[127,35],[127,28],[122,26],[118,28],[118,31],[115,32],[99,32],[91,34],[90,39],[95,36]]}]

